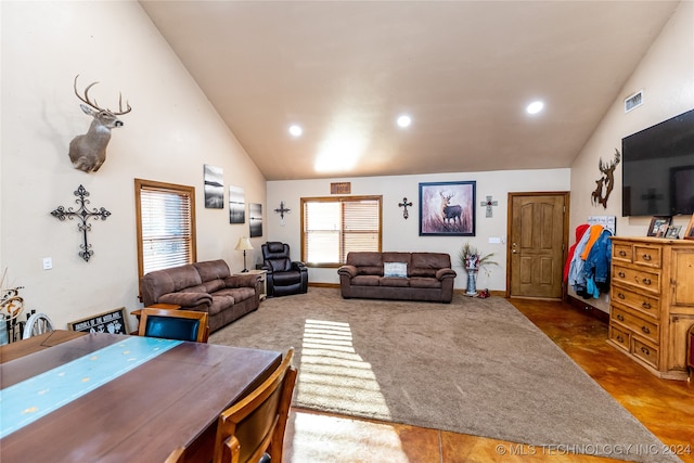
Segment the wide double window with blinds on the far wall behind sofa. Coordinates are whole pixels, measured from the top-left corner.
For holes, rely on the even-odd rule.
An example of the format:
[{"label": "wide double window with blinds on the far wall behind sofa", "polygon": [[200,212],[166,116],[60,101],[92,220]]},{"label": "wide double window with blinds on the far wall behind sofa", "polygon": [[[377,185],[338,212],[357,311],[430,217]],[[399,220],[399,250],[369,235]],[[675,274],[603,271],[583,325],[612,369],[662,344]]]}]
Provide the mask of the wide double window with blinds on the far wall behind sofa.
[{"label": "wide double window with blinds on the far wall behind sofa", "polygon": [[337,267],[349,252],[381,252],[381,196],[301,198],[301,260]]}]

